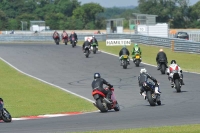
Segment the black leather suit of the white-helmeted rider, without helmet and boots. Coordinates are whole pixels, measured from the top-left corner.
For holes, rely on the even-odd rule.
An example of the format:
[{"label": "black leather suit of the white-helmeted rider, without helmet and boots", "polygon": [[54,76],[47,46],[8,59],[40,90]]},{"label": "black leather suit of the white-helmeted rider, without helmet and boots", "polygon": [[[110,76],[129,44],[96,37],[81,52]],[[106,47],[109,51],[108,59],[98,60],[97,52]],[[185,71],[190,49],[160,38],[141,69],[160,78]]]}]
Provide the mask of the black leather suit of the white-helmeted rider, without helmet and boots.
[{"label": "black leather suit of the white-helmeted rider, without helmet and boots", "polygon": [[143,83],[144,82],[148,82],[148,79],[151,79],[153,82],[157,82],[157,80],[152,77],[151,75],[149,75],[148,73],[141,73],[138,76],[138,83],[139,83],[139,87],[140,87],[140,93],[143,93],[145,91],[145,88],[143,87]]}]

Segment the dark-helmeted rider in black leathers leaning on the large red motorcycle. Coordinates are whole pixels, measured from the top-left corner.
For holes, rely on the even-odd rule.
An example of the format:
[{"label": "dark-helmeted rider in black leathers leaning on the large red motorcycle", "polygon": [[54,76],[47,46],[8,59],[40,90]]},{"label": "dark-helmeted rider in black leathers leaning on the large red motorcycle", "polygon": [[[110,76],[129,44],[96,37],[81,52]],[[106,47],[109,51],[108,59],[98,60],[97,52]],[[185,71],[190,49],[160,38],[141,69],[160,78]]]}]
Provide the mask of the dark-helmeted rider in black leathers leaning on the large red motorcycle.
[{"label": "dark-helmeted rider in black leathers leaning on the large red motorcycle", "polygon": [[[104,89],[103,85],[107,85],[108,89]],[[99,91],[103,92],[106,95],[106,98],[108,98],[109,101],[111,100],[112,91],[110,90],[113,87],[109,82],[107,82],[105,79],[101,78],[100,73],[94,73],[94,80],[92,82],[92,89],[98,89]]]}]

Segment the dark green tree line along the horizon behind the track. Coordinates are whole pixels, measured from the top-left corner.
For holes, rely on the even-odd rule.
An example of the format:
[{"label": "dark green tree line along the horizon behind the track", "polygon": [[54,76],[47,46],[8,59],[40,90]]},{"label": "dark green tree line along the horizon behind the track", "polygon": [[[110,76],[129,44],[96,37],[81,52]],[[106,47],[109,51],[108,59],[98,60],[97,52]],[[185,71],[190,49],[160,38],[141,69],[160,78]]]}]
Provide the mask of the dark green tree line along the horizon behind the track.
[{"label": "dark green tree line along the horizon behind the track", "polygon": [[53,29],[105,29],[106,19],[125,18],[129,27],[132,13],[158,15],[158,23],[171,28],[199,28],[200,2],[189,0],[138,0],[132,8],[104,8],[97,3],[81,5],[78,0],[0,0],[0,30],[20,30],[21,21],[43,20]]}]

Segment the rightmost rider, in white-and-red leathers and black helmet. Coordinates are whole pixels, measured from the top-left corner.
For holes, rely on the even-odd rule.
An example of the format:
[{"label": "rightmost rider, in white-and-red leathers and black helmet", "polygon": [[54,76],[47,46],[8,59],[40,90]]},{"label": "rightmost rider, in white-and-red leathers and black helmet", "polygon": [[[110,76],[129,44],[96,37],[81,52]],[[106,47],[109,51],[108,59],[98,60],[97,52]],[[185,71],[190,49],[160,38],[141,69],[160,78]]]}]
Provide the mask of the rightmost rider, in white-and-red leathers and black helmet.
[{"label": "rightmost rider, in white-and-red leathers and black helmet", "polygon": [[171,87],[174,87],[174,82],[173,82],[173,71],[178,71],[178,74],[180,76],[181,79],[181,85],[185,85],[185,83],[183,82],[183,71],[181,69],[181,67],[176,64],[176,60],[172,60],[171,64],[169,65],[168,69],[167,69],[167,75],[168,75],[168,79],[171,82]]}]

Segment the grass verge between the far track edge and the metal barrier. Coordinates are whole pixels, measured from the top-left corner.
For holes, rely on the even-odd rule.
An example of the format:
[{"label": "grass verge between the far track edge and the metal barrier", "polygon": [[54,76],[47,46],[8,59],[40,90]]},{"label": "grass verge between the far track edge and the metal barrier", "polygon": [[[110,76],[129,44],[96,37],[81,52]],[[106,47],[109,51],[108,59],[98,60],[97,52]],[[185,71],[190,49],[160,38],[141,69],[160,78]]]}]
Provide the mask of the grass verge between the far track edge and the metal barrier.
[{"label": "grass verge between the far track edge and the metal barrier", "polygon": [[[200,67],[199,67],[200,55],[199,54],[173,52],[170,48],[143,45],[143,44],[139,44],[139,46],[142,49],[142,61],[145,63],[156,65],[156,55],[159,49],[163,48],[168,58],[168,64],[171,62],[172,59],[175,59],[177,61],[177,64],[180,65],[183,71],[200,73]],[[100,50],[113,53],[116,55],[119,55],[119,51],[121,48],[122,46],[106,46],[105,42],[99,42]],[[127,46],[127,48],[129,49],[129,52],[132,52],[133,45]]]}]

